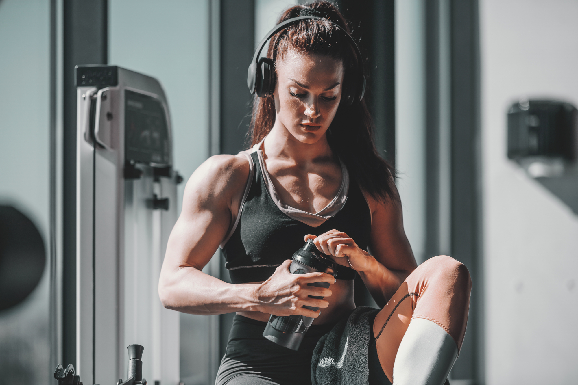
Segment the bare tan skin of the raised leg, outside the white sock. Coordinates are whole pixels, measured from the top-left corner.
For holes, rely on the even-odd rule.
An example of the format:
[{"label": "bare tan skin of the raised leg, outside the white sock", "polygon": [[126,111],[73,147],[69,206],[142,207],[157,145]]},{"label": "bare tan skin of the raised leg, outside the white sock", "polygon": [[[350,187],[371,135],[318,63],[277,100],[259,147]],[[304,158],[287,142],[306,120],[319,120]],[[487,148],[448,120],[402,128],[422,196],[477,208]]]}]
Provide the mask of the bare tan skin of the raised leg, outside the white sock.
[{"label": "bare tan skin of the raised leg, outside the white sock", "polygon": [[391,383],[399,343],[413,318],[435,322],[461,349],[471,289],[468,268],[445,255],[428,259],[403,281],[373,322],[377,356]]}]

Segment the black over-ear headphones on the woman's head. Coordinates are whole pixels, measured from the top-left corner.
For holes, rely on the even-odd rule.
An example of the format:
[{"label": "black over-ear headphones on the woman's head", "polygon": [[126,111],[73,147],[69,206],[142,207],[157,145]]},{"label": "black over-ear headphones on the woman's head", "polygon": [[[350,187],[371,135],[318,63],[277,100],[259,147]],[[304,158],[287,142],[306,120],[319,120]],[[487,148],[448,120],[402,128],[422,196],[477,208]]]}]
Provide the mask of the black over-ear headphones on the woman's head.
[{"label": "black over-ear headphones on the woman's head", "polygon": [[[281,31],[281,29],[287,27],[287,25],[298,23],[301,20],[327,20],[322,17],[317,16],[299,16],[293,17],[286,21],[283,21],[281,24],[277,24],[271,31],[265,35],[265,38],[261,40],[259,45],[257,46],[257,50],[255,50],[255,54],[253,55],[253,60],[251,61],[251,65],[247,70],[247,87],[249,87],[249,91],[251,94],[257,94],[260,98],[265,98],[265,96],[272,95],[273,91],[275,91],[275,61],[273,59],[264,57],[259,58],[265,43],[272,38],[275,33]],[[331,20],[329,20],[331,21]],[[358,103],[363,99],[365,94],[365,73],[363,68],[363,58],[361,57],[360,48],[355,43],[355,40],[351,37],[347,31],[343,28],[339,27],[338,24],[331,21],[335,27],[340,29],[347,35],[351,42],[351,46],[355,49],[355,54],[357,55],[357,71],[354,79],[351,83],[352,85],[348,87],[349,89],[344,90],[342,94],[341,100],[342,103],[346,104],[346,106],[351,106],[351,104]]]}]

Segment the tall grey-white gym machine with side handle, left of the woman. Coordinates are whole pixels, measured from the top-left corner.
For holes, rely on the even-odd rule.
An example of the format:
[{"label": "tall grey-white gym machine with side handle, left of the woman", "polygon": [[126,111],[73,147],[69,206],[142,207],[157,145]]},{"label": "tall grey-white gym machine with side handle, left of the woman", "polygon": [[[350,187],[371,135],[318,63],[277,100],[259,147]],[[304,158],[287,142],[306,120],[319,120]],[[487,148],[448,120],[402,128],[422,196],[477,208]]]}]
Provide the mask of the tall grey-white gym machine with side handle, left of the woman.
[{"label": "tall grey-white gym machine with side handle, left of the woman", "polygon": [[149,347],[143,375],[177,384],[179,313],[157,293],[182,181],[166,96],[158,80],[117,66],[75,71],[76,375],[116,383],[127,358],[140,362],[138,345],[124,349],[137,342]]}]

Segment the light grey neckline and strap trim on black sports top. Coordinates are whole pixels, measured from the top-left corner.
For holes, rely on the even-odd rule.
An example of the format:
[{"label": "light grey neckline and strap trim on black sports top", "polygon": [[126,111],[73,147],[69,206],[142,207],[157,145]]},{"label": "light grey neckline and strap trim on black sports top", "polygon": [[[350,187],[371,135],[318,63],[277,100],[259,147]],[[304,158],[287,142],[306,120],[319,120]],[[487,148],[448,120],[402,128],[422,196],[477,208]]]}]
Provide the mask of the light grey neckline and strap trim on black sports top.
[{"label": "light grey neckline and strap trim on black sports top", "polygon": [[227,241],[229,240],[229,238],[231,238],[231,236],[235,232],[237,225],[239,224],[239,218],[241,216],[241,212],[243,211],[243,205],[245,203],[245,200],[247,199],[247,195],[249,194],[251,183],[253,182],[255,166],[253,165],[253,158],[251,158],[250,154],[253,154],[253,152],[255,151],[257,152],[257,156],[259,158],[261,173],[262,175],[264,175],[264,182],[267,191],[269,192],[269,196],[271,197],[273,202],[275,202],[277,207],[279,207],[279,210],[281,210],[281,212],[283,212],[289,218],[299,220],[299,222],[303,222],[311,227],[318,227],[321,225],[321,223],[325,222],[325,220],[331,218],[332,216],[335,216],[343,208],[343,205],[347,201],[347,192],[349,191],[349,172],[347,171],[347,167],[343,164],[342,160],[339,159],[339,162],[341,164],[341,175],[342,175],[341,186],[334,199],[331,202],[329,202],[327,206],[321,209],[321,211],[317,212],[316,214],[312,214],[311,212],[299,210],[298,208],[294,208],[291,207],[290,205],[284,204],[283,201],[281,201],[279,194],[277,194],[277,190],[275,190],[275,186],[271,181],[271,176],[267,171],[265,160],[263,159],[262,144],[264,140],[265,139],[261,140],[260,143],[255,144],[251,149],[248,149],[247,151],[239,152],[239,154],[244,155],[247,158],[247,160],[249,160],[249,167],[250,167],[249,178],[247,178],[247,186],[243,194],[243,199],[241,200],[241,203],[239,205],[239,212],[235,218],[234,225],[231,227],[231,230],[229,230],[227,236],[221,243],[221,249],[224,248],[225,244],[227,244]]}]

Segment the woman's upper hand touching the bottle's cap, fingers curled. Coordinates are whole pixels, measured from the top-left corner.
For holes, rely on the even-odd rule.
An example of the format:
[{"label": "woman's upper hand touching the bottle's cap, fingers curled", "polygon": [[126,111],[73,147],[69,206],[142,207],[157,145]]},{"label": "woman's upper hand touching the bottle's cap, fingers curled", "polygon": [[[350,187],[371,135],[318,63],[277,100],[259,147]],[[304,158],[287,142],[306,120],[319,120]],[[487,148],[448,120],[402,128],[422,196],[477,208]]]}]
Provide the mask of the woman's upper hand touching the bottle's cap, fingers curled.
[{"label": "woman's upper hand touching the bottle's cap, fingers curled", "polygon": [[320,236],[307,234],[305,242],[312,239],[317,249],[331,256],[336,263],[351,267],[356,271],[367,271],[375,263],[375,258],[362,250],[353,239],[343,231],[329,230]]}]

